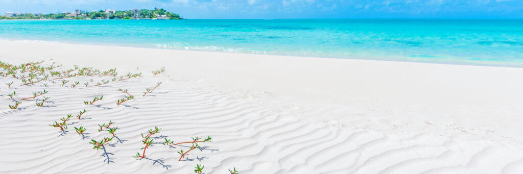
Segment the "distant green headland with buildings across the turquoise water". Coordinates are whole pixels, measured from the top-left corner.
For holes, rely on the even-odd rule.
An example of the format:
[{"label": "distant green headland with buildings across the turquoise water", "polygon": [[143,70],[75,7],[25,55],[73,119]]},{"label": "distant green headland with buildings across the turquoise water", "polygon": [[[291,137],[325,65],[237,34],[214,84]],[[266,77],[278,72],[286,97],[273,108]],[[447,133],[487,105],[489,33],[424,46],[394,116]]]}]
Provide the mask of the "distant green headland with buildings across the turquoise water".
[{"label": "distant green headland with buildings across the turquoise water", "polygon": [[63,11],[56,14],[31,14],[31,13],[6,13],[0,16],[0,19],[183,19],[180,15],[171,13],[163,8],[149,9],[132,9],[117,11],[113,9],[106,10],[87,10],[76,9],[74,13]]}]

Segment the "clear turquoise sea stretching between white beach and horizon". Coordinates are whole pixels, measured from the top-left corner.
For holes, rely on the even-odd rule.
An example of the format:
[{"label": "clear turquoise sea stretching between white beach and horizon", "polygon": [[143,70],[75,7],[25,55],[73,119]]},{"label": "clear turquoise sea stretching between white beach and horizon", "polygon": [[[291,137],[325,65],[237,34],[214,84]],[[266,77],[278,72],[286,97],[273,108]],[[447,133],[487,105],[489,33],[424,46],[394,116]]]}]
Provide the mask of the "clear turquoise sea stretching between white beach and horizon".
[{"label": "clear turquoise sea stretching between white beach and horizon", "polygon": [[523,67],[523,20],[1,20],[0,38]]}]

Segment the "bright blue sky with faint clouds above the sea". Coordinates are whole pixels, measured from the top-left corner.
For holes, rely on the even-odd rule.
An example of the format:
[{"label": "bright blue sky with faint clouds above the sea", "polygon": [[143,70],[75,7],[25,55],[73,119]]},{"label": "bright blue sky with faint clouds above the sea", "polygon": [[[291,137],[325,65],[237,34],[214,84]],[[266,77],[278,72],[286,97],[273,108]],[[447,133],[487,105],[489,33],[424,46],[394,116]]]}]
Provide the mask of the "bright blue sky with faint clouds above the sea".
[{"label": "bright blue sky with faint clouds above the sea", "polygon": [[189,19],[523,18],[523,0],[0,0],[0,14],[154,7]]}]

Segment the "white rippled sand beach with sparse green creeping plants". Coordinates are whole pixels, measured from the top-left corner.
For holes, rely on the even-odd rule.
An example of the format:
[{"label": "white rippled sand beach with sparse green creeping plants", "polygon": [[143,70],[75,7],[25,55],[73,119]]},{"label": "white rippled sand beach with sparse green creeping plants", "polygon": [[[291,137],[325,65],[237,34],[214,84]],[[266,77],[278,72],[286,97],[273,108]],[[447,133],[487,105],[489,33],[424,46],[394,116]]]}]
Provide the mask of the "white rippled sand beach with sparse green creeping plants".
[{"label": "white rippled sand beach with sparse green creeping plants", "polygon": [[[0,77],[0,173],[192,173],[197,164],[204,173],[523,171],[523,68],[13,40],[0,40],[0,61],[143,75],[120,82],[77,76],[64,86],[51,77],[25,86]],[[165,73],[153,77],[162,66]],[[94,86],[102,79],[110,82]],[[126,96],[119,88],[134,99],[117,105]],[[21,100],[44,89],[44,107]],[[8,107],[13,91],[19,109]],[[49,126],[84,109],[85,119],[72,118],[63,136]],[[123,142],[106,146],[108,164],[89,142],[110,137],[97,131],[109,121]],[[78,126],[89,138],[75,133]],[[152,138],[158,144],[146,149],[146,159],[133,158],[142,154],[141,134],[155,126],[162,129]],[[212,142],[181,161],[177,152],[191,144],[160,144],[194,136]]]}]

